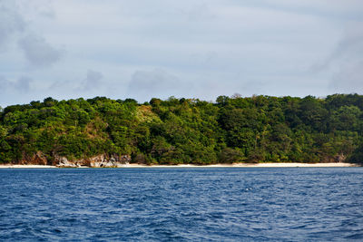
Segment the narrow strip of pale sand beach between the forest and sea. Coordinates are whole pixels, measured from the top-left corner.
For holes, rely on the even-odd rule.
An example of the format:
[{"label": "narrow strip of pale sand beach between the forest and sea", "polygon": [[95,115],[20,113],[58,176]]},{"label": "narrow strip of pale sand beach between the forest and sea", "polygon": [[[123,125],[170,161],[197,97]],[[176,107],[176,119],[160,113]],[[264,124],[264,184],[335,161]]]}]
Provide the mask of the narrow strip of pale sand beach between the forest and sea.
[{"label": "narrow strip of pale sand beach between the forest and sea", "polygon": [[[213,165],[142,165],[142,164],[127,164],[118,169],[130,169],[130,168],[334,168],[334,167],[361,167],[354,163],[234,163],[234,164],[213,164]],[[47,165],[13,165],[5,164],[0,165],[0,169],[54,169],[61,168],[57,166]],[[80,169],[86,169],[90,167],[80,167]],[[90,168],[91,169],[91,168]]]}]

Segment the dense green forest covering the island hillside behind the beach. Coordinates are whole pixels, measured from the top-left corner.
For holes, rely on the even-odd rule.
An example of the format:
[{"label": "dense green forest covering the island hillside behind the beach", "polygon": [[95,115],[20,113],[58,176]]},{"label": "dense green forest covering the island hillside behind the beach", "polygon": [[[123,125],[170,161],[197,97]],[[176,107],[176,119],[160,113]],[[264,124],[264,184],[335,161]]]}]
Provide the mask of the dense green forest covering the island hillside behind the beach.
[{"label": "dense green forest covering the island hillside behind the beach", "polygon": [[[0,162],[127,155],[146,164],[363,161],[363,96],[93,99],[0,108]],[[22,161],[23,160],[23,161]]]}]

